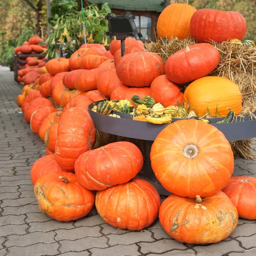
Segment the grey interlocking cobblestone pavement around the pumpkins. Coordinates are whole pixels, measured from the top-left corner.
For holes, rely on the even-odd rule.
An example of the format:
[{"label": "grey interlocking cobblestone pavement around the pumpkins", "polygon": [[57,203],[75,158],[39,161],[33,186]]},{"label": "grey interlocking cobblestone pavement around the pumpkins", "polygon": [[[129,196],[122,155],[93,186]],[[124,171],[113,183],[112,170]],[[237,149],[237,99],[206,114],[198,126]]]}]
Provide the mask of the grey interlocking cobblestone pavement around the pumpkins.
[{"label": "grey interlocking cobblestone pavement around the pumpkins", "polygon": [[[158,220],[144,232],[126,232],[95,209],[68,223],[41,214],[29,172],[45,145],[17,113],[18,93],[13,73],[0,69],[0,256],[256,256],[256,221],[239,219],[228,239],[201,246],[170,239]],[[236,160],[234,175],[256,176],[255,161]]]}]

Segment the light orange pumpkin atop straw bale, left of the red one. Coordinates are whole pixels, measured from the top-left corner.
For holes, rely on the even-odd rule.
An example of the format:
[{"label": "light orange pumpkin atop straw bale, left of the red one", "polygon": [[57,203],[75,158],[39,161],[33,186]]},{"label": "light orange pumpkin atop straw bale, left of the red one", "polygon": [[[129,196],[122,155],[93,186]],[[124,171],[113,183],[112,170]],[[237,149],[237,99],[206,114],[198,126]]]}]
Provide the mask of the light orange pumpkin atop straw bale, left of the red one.
[{"label": "light orange pumpkin atop straw bale, left of the red one", "polygon": [[190,20],[196,12],[193,6],[186,3],[173,3],[167,6],[157,20],[157,35],[160,38],[177,37],[185,39],[190,33]]}]

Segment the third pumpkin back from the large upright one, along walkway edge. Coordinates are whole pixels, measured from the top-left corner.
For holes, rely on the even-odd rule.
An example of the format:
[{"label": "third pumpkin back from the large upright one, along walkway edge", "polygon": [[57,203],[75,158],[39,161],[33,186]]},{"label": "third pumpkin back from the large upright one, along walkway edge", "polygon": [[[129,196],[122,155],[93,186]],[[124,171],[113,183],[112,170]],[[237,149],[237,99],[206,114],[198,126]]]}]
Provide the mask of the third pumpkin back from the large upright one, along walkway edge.
[{"label": "third pumpkin back from the large upright one, along walkway edge", "polygon": [[53,107],[41,107],[32,113],[30,119],[30,128],[35,134],[39,135],[41,123],[52,112],[56,112],[56,109]]}]

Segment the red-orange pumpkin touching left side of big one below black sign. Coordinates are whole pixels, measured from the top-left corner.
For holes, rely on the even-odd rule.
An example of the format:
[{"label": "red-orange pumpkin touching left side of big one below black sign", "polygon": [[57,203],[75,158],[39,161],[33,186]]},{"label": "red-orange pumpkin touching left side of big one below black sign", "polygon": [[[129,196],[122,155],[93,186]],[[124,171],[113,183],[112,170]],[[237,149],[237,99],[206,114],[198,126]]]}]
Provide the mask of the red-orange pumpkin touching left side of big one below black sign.
[{"label": "red-orange pumpkin touching left side of big one below black sign", "polygon": [[107,99],[110,98],[113,87],[120,84],[120,80],[116,75],[116,70],[106,70],[102,72],[97,79],[97,89],[102,95],[104,95]]}]

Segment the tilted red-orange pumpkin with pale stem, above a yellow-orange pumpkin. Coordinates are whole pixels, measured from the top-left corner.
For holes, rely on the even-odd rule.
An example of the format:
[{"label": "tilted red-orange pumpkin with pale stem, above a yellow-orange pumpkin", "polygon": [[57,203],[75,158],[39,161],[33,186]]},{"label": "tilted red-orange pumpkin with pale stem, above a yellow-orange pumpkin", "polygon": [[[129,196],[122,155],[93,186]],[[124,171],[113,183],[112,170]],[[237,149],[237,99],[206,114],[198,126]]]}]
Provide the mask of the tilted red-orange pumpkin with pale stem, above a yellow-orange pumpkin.
[{"label": "tilted red-orange pumpkin with pale stem, above a yellow-orange pumpkin", "polygon": [[172,82],[185,84],[211,73],[219,61],[220,54],[213,45],[195,44],[171,55],[165,64],[165,73]]}]

